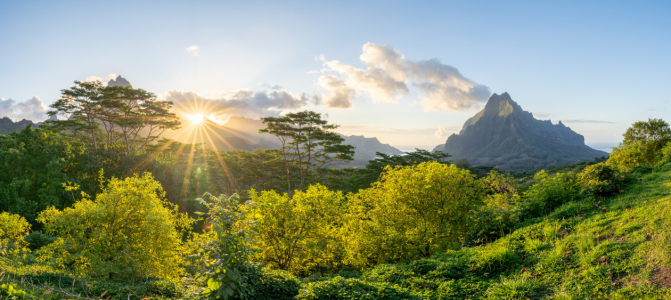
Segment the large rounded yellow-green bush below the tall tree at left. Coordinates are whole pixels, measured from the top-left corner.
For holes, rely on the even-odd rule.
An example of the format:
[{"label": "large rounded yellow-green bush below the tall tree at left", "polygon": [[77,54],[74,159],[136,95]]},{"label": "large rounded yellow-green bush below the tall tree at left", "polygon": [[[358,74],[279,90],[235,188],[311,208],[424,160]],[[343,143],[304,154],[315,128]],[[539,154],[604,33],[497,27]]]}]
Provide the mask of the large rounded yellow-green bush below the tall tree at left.
[{"label": "large rounded yellow-green bush below the tall tree at left", "polygon": [[145,173],[112,178],[95,201],[83,195],[71,208],[50,207],[38,221],[58,238],[40,249],[40,259],[94,277],[175,280],[184,259],[177,229],[190,222],[163,199],[164,194]]}]

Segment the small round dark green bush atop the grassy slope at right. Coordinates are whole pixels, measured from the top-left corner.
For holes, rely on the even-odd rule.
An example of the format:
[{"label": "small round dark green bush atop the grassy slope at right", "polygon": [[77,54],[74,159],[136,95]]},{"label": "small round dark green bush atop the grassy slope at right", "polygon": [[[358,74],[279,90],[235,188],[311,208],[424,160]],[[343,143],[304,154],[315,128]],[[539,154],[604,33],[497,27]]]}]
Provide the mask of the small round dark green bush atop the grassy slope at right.
[{"label": "small round dark green bush atop the grassy slope at right", "polygon": [[593,197],[606,197],[618,193],[628,178],[607,164],[600,163],[585,168],[578,174],[581,193]]}]

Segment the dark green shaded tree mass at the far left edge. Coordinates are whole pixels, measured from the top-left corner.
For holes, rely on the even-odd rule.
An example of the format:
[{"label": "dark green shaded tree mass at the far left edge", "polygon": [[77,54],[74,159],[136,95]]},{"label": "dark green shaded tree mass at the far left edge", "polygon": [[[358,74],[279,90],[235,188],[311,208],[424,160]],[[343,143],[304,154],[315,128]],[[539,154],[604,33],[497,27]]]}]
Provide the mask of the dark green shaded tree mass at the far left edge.
[{"label": "dark green shaded tree mass at the far left edge", "polygon": [[86,177],[77,172],[83,151],[81,143],[48,129],[29,126],[0,135],[0,211],[19,214],[39,227],[39,212],[71,205],[75,199],[62,183]]}]

